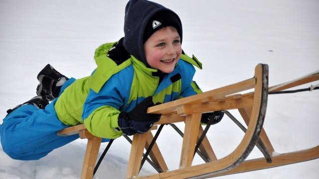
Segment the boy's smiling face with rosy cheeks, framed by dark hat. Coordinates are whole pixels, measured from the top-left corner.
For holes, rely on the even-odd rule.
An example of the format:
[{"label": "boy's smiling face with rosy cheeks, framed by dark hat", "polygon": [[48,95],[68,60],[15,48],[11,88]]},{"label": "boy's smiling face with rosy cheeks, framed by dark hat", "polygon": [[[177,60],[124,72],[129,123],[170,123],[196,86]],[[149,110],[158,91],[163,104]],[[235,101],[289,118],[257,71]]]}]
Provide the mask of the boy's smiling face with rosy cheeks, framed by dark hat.
[{"label": "boy's smiling face with rosy cheeks, framed by dark hat", "polygon": [[167,26],[154,32],[144,43],[144,51],[152,68],[164,73],[172,72],[182,51],[177,30]]}]

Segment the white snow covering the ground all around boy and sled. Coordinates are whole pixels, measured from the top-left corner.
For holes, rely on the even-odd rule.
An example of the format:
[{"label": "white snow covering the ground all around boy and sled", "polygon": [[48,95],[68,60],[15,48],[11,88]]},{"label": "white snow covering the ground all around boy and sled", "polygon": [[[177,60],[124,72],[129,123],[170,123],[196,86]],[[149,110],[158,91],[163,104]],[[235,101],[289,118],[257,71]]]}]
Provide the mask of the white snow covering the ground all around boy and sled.
[{"label": "white snow covering the ground all around boy and sled", "polygon": [[[179,14],[183,50],[203,63],[194,78],[203,91],[253,77],[258,63],[269,65],[270,86],[319,70],[318,0],[157,1]],[[124,35],[126,2],[1,0],[0,118],[7,109],[35,96],[36,75],[48,63],[69,77],[90,75],[96,66],[94,50]],[[310,85],[316,84],[303,87]],[[269,96],[264,128],[277,153],[318,145],[318,99],[318,90]],[[240,119],[238,112],[230,112]],[[211,127],[208,137],[222,158],[236,148],[243,133],[224,117]],[[0,148],[0,179],[79,179],[85,142],[76,140],[38,161],[12,160]],[[165,126],[158,145],[169,170],[177,169],[178,134]],[[130,144],[123,137],[115,140],[97,178],[125,178],[129,153]],[[248,158],[256,157],[262,154],[254,149]],[[193,164],[200,163],[196,156]],[[220,179],[317,179],[318,167],[317,159]],[[152,173],[156,171],[145,164],[141,175]]]}]

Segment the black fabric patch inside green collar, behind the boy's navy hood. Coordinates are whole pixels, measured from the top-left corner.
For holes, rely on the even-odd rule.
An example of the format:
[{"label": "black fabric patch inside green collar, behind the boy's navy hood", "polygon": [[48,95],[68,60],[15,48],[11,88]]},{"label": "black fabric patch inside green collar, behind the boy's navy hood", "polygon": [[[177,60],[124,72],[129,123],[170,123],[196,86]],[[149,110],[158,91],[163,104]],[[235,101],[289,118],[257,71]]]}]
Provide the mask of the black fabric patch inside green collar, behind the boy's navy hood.
[{"label": "black fabric patch inside green collar, behind the boy's navy hood", "polygon": [[110,50],[108,53],[108,57],[110,59],[112,59],[117,65],[122,64],[124,61],[126,61],[127,59],[129,59],[131,56],[130,54],[127,52],[127,50],[124,48],[123,46],[123,39],[124,37],[122,37],[118,43],[116,43]]}]

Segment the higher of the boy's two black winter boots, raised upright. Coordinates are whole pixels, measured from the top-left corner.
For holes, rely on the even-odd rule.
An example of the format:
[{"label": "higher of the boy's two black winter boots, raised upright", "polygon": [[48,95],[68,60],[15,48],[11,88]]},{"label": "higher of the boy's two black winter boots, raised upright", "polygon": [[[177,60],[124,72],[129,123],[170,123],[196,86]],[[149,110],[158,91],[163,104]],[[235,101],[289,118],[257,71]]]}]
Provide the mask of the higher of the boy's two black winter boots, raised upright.
[{"label": "higher of the boy's two black winter boots, raised upright", "polygon": [[36,78],[40,82],[36,88],[36,94],[42,95],[48,101],[55,99],[59,95],[62,85],[69,80],[50,64],[47,64]]}]

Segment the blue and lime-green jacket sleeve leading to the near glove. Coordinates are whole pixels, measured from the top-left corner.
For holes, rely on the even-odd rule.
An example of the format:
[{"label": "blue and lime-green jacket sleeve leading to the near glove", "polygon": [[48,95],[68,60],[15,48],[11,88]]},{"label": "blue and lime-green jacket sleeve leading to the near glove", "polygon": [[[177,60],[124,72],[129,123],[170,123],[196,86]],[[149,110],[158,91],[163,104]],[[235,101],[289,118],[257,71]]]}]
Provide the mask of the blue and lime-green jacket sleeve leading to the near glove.
[{"label": "blue and lime-green jacket sleeve leading to the near glove", "polygon": [[112,76],[96,93],[92,89],[83,106],[82,119],[90,133],[102,138],[115,139],[123,133],[117,130],[120,108],[126,103],[130,89],[123,88],[123,81]]}]

